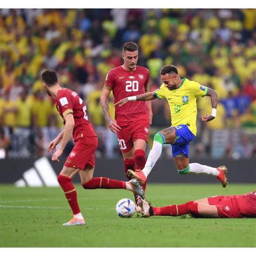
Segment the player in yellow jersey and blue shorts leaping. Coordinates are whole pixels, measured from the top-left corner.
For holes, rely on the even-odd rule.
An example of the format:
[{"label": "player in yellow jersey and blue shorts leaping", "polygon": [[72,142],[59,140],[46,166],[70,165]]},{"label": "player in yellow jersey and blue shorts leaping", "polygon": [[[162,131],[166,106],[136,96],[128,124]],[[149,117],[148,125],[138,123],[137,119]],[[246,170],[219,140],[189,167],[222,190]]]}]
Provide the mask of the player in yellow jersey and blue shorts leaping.
[{"label": "player in yellow jersey and blue shorts leaping", "polygon": [[153,147],[144,169],[135,172],[129,170],[129,175],[137,178],[143,185],[161,155],[162,145],[171,144],[172,157],[180,174],[211,174],[220,180],[223,187],[226,187],[226,166],[214,168],[198,163],[189,164],[189,144],[197,134],[197,97],[211,97],[212,113],[202,117],[204,122],[209,122],[216,117],[217,93],[197,82],[179,77],[178,70],[173,65],[164,66],[160,71],[160,78],[163,84],[158,90],[127,97],[114,104],[122,106],[129,101],[166,98],[170,105],[171,127],[155,134]]}]

